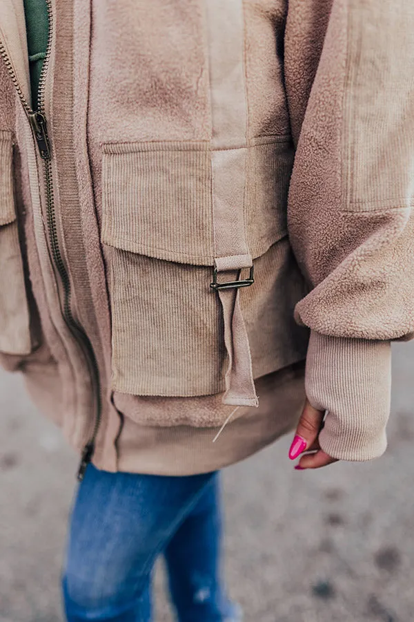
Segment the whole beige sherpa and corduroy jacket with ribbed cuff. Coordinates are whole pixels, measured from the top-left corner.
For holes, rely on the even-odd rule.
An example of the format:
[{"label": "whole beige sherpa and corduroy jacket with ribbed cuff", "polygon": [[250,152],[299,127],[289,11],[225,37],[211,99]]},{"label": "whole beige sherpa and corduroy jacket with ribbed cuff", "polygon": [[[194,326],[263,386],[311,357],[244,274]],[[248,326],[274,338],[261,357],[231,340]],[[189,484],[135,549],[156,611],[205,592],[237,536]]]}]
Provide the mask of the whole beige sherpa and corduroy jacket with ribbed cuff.
[{"label": "whole beige sherpa and corduroy jacket with ribbed cuff", "polygon": [[305,390],[322,449],[380,455],[414,334],[412,1],[48,6],[34,111],[0,0],[3,365],[83,466],[219,468]]}]

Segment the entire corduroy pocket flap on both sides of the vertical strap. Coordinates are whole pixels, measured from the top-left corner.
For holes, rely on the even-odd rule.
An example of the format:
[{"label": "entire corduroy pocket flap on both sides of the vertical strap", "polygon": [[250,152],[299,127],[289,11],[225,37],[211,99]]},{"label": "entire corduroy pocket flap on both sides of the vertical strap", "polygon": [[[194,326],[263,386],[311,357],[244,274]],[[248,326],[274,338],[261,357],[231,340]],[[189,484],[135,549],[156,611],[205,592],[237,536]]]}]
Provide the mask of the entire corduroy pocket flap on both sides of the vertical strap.
[{"label": "entire corduroy pocket flap on both sides of the vertical strap", "polygon": [[[286,235],[289,140],[250,140],[244,214],[253,258]],[[103,144],[103,243],[166,261],[214,265],[211,146],[207,141]]]}]

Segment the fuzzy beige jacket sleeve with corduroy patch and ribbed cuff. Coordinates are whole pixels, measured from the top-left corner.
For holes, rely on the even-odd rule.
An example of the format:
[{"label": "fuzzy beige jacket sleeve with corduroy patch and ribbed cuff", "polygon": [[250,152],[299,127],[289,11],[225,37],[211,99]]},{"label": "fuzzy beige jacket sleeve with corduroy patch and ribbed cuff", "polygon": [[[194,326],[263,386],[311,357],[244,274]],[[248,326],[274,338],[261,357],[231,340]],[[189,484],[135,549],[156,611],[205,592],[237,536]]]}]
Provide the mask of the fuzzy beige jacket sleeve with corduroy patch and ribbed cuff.
[{"label": "fuzzy beige jacket sleeve with corduroy patch and ribbed cuff", "polygon": [[327,411],[322,449],[368,460],[386,448],[391,341],[414,337],[414,3],[289,0],[284,50],[306,395]]}]

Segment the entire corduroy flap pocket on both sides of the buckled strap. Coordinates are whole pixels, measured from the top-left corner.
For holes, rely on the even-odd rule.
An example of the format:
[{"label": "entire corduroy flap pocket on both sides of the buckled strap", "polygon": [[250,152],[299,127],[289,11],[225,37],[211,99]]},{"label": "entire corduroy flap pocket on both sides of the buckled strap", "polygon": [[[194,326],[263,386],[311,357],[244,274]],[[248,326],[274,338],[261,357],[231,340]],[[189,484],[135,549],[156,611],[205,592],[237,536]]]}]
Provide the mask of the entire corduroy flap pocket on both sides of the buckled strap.
[{"label": "entire corduroy flap pocket on both sides of the buckled strap", "polygon": [[[282,285],[281,271],[293,266],[286,239],[292,160],[286,142],[257,139],[246,149],[240,209],[250,253],[257,258],[257,283],[242,292],[241,303],[249,337],[260,348],[263,325],[255,318],[270,305],[266,343],[275,345],[252,352],[255,377],[302,356],[282,334],[288,309],[293,312],[290,294],[280,291],[279,305],[268,296],[276,293],[275,283]],[[121,393],[190,397],[224,390],[224,327],[210,288],[212,186],[208,142],[103,145],[101,239],[109,264],[112,388]],[[280,347],[279,338],[286,346]]]}]

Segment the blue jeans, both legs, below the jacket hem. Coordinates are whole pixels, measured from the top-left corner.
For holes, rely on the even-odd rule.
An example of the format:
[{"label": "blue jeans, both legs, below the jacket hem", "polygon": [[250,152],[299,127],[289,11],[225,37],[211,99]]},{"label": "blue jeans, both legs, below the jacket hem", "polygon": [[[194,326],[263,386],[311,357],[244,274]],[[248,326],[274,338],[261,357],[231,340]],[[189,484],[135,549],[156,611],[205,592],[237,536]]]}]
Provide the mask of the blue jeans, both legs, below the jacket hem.
[{"label": "blue jeans, both legs, below the jacket hem", "polygon": [[220,578],[217,473],[162,477],[90,464],[72,511],[63,599],[68,622],[150,622],[164,554],[179,622],[236,622]]}]

